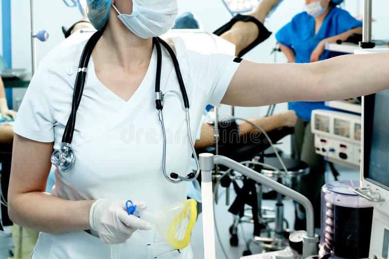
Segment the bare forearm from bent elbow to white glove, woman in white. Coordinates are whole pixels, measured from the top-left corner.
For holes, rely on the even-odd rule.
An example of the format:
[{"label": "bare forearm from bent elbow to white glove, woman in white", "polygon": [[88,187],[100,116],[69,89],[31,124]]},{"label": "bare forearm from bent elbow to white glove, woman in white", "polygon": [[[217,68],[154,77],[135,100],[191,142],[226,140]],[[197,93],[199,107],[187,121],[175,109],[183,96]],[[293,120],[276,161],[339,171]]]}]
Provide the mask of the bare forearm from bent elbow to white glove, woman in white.
[{"label": "bare forearm from bent elbow to white glove, woman in white", "polygon": [[89,210],[93,201],[68,201],[46,192],[19,194],[8,201],[12,221],[46,233],[90,229]]}]

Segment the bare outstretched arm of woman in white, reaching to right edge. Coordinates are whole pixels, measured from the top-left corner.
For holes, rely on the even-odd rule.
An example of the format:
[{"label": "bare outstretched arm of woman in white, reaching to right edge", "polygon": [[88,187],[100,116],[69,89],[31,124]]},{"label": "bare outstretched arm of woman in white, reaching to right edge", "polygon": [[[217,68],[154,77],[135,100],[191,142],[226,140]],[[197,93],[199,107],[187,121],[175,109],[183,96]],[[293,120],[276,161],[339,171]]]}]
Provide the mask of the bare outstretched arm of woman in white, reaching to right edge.
[{"label": "bare outstretched arm of woman in white, reaching to right edge", "polygon": [[389,53],[345,55],[309,64],[243,61],[223,104],[263,106],[332,101],[389,88]]}]

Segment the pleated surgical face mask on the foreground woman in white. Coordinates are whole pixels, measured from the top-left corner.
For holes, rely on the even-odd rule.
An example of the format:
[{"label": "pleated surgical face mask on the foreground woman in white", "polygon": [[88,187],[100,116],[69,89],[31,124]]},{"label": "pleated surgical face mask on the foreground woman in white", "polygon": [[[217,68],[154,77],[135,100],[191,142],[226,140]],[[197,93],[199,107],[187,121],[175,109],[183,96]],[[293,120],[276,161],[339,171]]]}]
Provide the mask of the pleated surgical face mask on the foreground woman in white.
[{"label": "pleated surgical face mask on the foreground woman in white", "polygon": [[178,15],[177,0],[133,0],[132,14],[119,14],[125,26],[135,35],[148,39],[169,31]]}]

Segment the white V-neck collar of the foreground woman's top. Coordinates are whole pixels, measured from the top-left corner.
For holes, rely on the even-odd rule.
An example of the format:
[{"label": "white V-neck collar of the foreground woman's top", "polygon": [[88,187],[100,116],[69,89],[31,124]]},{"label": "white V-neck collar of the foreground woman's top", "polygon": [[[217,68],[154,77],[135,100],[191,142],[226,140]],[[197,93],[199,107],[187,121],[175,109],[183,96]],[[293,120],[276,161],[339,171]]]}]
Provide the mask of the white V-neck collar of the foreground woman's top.
[{"label": "white V-neck collar of the foreground woman's top", "polygon": [[104,86],[103,83],[100,82],[100,80],[97,78],[96,75],[92,57],[90,57],[90,61],[89,61],[89,66],[88,66],[89,78],[87,78],[87,80],[92,80],[92,82],[90,82],[91,87],[94,88],[102,97],[104,97],[110,103],[117,104],[117,105],[130,105],[131,103],[136,103],[137,101],[141,100],[148,90],[151,91],[153,89],[150,88],[149,86],[155,81],[155,75],[157,71],[156,59],[157,59],[157,53],[156,53],[156,49],[154,48],[146,74],[141,84],[138,86],[138,88],[135,90],[135,92],[133,93],[133,95],[128,101],[125,101],[122,98],[120,98],[117,94],[112,92],[110,89]]}]

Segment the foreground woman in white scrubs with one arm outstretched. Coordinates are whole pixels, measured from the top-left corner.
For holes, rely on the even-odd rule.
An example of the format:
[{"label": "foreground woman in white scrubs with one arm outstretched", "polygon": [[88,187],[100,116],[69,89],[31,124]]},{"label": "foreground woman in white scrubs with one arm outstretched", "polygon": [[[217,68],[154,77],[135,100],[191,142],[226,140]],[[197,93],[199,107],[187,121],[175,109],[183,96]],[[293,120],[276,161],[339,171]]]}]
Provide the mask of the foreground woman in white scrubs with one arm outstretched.
[{"label": "foreground woman in white scrubs with one arm outstretched", "polygon": [[[88,15],[104,33],[92,52],[77,112],[76,161],[70,171],[56,171],[53,194],[45,193],[50,157],[69,118],[85,45],[65,41],[40,63],[14,125],[9,215],[16,224],[41,231],[34,259],[106,259],[111,247],[106,243],[124,243],[122,258],[192,259],[190,246],[173,250],[155,228],[123,208],[129,198],[153,209],[186,199],[186,185],[168,182],[161,172],[154,99],[157,56],[151,39],[173,26],[177,0],[89,0]],[[189,96],[192,129],[198,128],[206,104],[336,100],[389,86],[389,53],[307,65],[257,64],[190,52],[179,38],[172,42]],[[161,89],[179,91],[172,60],[162,50]],[[163,116],[169,135],[177,133],[167,140],[167,171],[182,175],[192,153],[182,138],[186,120],[181,102],[175,94],[166,95]]]}]

